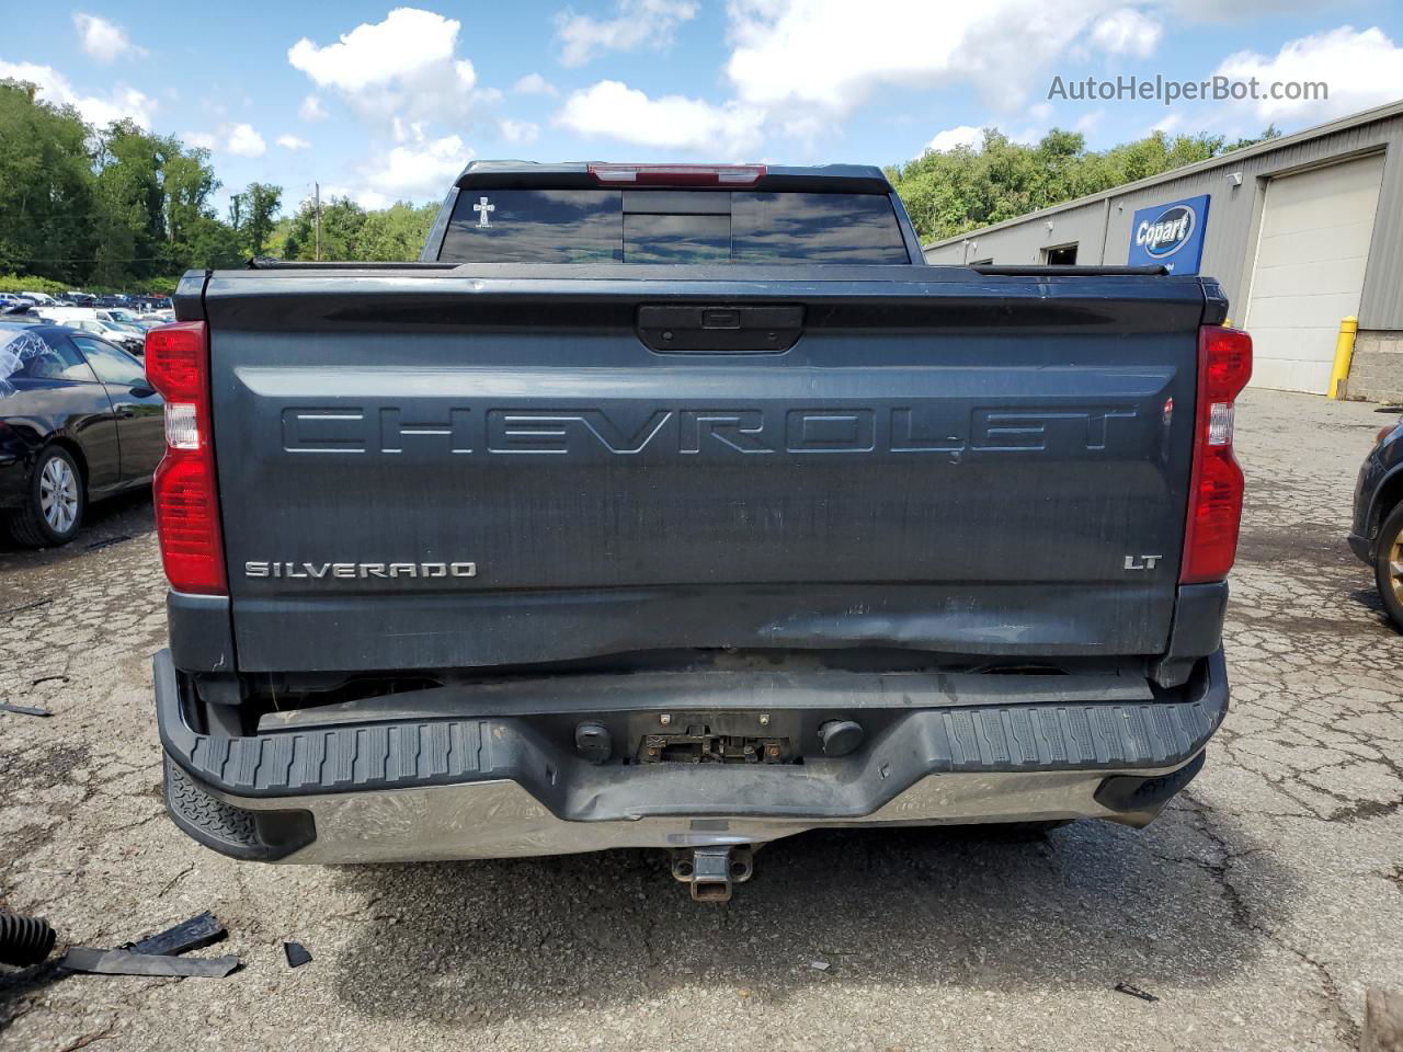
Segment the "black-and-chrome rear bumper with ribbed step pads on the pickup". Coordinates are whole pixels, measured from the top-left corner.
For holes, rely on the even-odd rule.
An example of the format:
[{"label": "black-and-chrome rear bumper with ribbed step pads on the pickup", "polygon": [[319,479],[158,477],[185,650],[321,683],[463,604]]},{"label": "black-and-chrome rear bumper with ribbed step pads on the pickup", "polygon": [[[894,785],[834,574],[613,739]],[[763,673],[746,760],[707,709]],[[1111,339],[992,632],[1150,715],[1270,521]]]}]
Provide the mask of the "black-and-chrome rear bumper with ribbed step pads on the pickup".
[{"label": "black-and-chrome rear bumper with ribbed step pads on the pickup", "polygon": [[1218,651],[1160,700],[898,700],[842,759],[592,764],[522,715],[205,735],[170,655],[154,665],[177,825],[224,854],[297,863],[755,844],[818,826],[1145,825],[1198,773],[1228,710]]}]

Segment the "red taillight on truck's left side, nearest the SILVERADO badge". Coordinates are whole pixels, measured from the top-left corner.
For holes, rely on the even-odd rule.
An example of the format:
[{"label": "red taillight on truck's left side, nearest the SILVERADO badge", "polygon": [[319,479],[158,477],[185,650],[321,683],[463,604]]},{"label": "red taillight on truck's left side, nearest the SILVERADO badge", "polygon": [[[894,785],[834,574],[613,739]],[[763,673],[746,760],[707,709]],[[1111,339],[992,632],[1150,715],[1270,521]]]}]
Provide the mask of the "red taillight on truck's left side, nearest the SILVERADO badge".
[{"label": "red taillight on truck's left side, nearest the SILVERADO badge", "polygon": [[149,330],[146,379],[166,398],[166,456],[152,484],[166,579],[177,592],[227,595],[205,323],[177,321]]}]

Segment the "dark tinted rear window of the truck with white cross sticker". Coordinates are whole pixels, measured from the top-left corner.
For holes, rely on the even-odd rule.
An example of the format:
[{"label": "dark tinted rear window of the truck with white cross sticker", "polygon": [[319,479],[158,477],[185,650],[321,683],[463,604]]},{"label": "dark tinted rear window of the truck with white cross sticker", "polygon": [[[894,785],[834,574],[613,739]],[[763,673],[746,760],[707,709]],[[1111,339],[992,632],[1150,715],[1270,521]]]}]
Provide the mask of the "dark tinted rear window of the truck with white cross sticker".
[{"label": "dark tinted rear window of the truck with white cross sticker", "polygon": [[439,259],[911,262],[882,195],[661,189],[464,191]]}]

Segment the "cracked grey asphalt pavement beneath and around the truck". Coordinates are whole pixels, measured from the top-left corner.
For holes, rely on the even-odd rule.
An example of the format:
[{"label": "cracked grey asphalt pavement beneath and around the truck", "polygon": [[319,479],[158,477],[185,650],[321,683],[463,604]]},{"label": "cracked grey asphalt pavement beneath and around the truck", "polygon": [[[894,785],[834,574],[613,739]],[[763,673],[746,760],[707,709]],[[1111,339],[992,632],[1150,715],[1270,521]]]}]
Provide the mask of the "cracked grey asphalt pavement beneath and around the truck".
[{"label": "cracked grey asphalt pavement beneath and around the truck", "polygon": [[[1386,418],[1271,391],[1237,412],[1232,710],[1164,815],[1023,840],[808,833],[766,847],[728,908],[638,851],[213,854],[160,798],[149,501],[94,509],[63,550],[0,550],[0,699],[53,711],[0,714],[0,903],[46,915],[60,951],[212,909],[244,962],[0,975],[0,1046],[1357,1048],[1365,987],[1403,987],[1403,637],[1344,544]],[[290,971],[283,940],[316,959]]]}]

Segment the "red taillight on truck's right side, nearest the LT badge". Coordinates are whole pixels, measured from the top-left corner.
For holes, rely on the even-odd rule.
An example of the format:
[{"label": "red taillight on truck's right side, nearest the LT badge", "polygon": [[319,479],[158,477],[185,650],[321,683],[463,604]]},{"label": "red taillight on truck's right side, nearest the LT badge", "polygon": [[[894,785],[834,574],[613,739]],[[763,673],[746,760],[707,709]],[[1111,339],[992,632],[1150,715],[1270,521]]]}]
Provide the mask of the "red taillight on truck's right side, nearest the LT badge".
[{"label": "red taillight on truck's right side, nearest the LT badge", "polygon": [[1194,468],[1179,581],[1222,581],[1237,554],[1242,468],[1232,452],[1233,403],[1251,377],[1251,337],[1236,328],[1198,330]]}]

